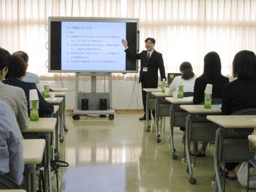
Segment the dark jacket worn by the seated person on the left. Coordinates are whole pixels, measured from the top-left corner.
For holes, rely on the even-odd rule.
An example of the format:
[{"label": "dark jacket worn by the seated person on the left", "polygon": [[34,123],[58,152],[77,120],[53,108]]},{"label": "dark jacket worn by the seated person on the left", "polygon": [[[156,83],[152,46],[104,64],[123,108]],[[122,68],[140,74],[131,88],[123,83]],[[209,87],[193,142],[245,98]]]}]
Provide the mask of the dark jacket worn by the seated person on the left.
[{"label": "dark jacket worn by the seated person on the left", "polygon": [[[28,102],[28,112],[30,115],[30,107],[29,107],[29,90],[30,89],[37,89],[36,84],[34,84],[34,82],[24,82],[21,80],[3,80],[2,82],[4,82],[5,84],[8,85],[12,85],[12,86],[16,86],[19,88],[22,88],[23,91],[25,92],[26,95],[26,101]],[[45,99],[42,97],[42,94],[38,91],[37,89],[37,94],[38,94],[38,99],[39,99],[39,116],[44,116],[44,115],[50,115],[53,113],[53,105],[52,104],[48,104],[47,101],[45,101]]]}]

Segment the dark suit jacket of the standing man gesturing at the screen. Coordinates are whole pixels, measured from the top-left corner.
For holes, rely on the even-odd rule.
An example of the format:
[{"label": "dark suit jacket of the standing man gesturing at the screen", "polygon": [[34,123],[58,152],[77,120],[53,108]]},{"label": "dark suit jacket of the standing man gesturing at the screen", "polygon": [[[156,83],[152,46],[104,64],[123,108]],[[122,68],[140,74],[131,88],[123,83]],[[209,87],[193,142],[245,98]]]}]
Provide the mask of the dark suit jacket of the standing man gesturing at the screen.
[{"label": "dark suit jacket of the standing man gesturing at the screen", "polygon": [[[165,79],[165,66],[162,59],[162,54],[156,50],[153,51],[151,57],[147,62],[147,51],[143,50],[141,53],[132,54],[129,50],[125,50],[127,56],[130,58],[140,59],[140,80],[139,82],[145,82],[144,88],[157,88],[158,82],[158,69],[161,74],[161,80]],[[148,67],[148,72],[143,72],[143,67]],[[166,79],[165,79],[166,80]]]}]

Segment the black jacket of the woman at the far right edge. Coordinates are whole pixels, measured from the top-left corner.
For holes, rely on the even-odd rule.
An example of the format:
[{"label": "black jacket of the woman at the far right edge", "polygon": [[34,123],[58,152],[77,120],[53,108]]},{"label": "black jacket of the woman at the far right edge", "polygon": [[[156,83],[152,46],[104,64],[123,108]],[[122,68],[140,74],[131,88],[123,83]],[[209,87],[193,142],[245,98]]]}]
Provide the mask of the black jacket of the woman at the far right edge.
[{"label": "black jacket of the woman at the far right edge", "polygon": [[225,85],[222,93],[222,115],[256,107],[256,80],[234,80]]}]

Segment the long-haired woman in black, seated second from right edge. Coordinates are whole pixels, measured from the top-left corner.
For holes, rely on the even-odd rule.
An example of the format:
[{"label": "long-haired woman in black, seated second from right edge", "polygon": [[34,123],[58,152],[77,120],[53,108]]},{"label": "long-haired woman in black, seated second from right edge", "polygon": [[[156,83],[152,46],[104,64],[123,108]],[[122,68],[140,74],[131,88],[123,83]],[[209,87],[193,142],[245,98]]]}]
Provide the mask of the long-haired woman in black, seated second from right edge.
[{"label": "long-haired woman in black, seated second from right edge", "polygon": [[[194,99],[193,104],[200,104],[204,101],[204,91],[206,89],[206,84],[212,85],[212,99],[222,98],[222,90],[226,83],[228,83],[228,78],[222,75],[222,64],[218,53],[210,52],[207,53],[204,58],[204,68],[203,74],[195,80],[194,87]],[[193,150],[191,155],[196,156],[206,156],[206,145],[207,142],[203,142],[203,145],[198,150],[198,143],[194,142]]]}]

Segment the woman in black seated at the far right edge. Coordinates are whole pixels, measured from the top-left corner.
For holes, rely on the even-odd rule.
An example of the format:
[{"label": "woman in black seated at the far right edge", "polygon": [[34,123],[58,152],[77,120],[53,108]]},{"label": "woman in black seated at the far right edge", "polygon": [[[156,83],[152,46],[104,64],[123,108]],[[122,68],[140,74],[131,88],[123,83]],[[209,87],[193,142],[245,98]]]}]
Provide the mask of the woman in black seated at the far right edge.
[{"label": "woman in black seated at the far right edge", "polygon": [[[238,110],[256,107],[256,55],[242,50],[233,60],[233,76],[237,80],[225,85],[222,93],[222,115],[230,115]],[[234,170],[238,163],[226,163],[226,177],[236,180]]]}]

